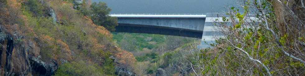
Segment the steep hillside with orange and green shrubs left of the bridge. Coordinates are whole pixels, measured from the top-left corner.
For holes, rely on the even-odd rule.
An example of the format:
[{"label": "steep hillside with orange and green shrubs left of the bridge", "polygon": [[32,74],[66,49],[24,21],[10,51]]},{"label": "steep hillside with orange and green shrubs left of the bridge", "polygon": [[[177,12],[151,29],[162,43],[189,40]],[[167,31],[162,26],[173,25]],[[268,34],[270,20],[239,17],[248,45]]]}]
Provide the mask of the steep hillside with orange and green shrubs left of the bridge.
[{"label": "steep hillside with orange and green shrubs left of the bridge", "polygon": [[76,1],[1,0],[0,75],[135,75],[133,54]]}]

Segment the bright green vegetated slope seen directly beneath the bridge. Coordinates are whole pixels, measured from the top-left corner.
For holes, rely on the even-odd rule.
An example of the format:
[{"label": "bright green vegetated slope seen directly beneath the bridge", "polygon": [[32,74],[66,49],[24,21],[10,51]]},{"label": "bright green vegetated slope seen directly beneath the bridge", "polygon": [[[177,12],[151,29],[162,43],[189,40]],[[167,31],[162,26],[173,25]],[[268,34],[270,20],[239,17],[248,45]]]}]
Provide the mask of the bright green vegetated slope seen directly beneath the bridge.
[{"label": "bright green vegetated slope seen directly beneath the bridge", "polygon": [[[113,33],[113,39],[123,49],[133,51],[142,51],[143,48],[153,49],[165,42],[166,36],[155,34],[139,34],[139,33]],[[126,46],[128,44],[128,47]],[[129,48],[129,49],[127,49]]]}]

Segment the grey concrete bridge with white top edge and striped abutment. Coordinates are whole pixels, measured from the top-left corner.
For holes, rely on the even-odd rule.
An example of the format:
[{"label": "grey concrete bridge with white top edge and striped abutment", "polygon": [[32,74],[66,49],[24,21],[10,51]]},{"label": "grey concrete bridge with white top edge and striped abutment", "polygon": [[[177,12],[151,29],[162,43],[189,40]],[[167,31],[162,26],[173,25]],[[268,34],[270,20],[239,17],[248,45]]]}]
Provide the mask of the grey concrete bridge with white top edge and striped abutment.
[{"label": "grey concrete bridge with white top edge and striped abutment", "polygon": [[[201,38],[208,42],[208,44],[214,43],[214,35],[220,35],[215,30],[215,27],[213,27],[213,20],[215,20],[217,15],[111,14],[110,16],[118,18],[119,26],[116,27],[115,32],[148,33]],[[209,45],[202,41],[199,47],[209,47]]]}]

